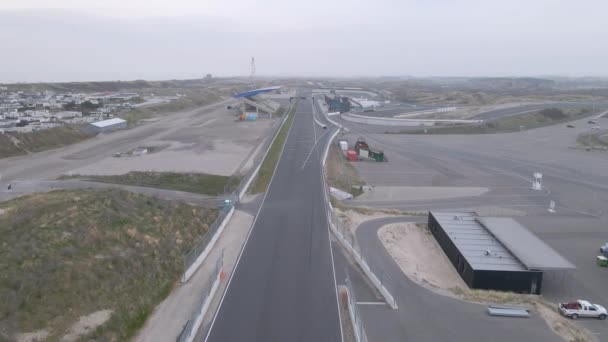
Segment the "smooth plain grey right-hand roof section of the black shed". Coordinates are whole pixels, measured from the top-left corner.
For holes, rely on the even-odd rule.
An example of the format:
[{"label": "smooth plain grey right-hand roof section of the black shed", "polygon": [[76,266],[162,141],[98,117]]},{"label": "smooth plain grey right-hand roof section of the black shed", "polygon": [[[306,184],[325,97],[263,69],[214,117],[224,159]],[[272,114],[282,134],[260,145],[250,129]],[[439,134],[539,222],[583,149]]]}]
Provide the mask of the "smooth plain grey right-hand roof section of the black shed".
[{"label": "smooth plain grey right-hand roof section of the black shed", "polygon": [[512,218],[479,217],[477,221],[530,270],[576,268],[570,261]]}]

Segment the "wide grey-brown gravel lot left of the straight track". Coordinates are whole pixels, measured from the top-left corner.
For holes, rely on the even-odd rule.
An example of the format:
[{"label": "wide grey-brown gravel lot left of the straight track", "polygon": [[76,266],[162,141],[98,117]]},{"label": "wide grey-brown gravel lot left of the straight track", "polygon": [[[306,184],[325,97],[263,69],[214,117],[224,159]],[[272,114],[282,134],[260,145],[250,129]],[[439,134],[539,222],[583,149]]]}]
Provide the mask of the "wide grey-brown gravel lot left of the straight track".
[{"label": "wide grey-brown gravel lot left of the straight track", "polygon": [[[278,120],[235,122],[226,100],[196,110],[160,117],[133,129],[101,134],[82,143],[29,156],[0,160],[2,184],[61,174],[122,174],[129,171],[204,172],[231,175],[239,171]],[[115,158],[138,147],[163,148],[156,153]]]}]

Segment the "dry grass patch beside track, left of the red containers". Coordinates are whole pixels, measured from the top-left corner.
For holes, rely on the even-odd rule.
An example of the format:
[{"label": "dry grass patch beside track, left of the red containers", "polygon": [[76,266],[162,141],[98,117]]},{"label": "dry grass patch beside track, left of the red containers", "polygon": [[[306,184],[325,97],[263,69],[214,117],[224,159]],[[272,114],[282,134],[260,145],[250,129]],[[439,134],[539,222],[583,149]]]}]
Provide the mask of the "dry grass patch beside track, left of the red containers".
[{"label": "dry grass patch beside track, left of the red containers", "polygon": [[357,169],[346,160],[338,145],[333,143],[327,155],[327,180],[330,186],[355,197],[363,193],[360,186],[365,185],[365,180],[359,176]]}]

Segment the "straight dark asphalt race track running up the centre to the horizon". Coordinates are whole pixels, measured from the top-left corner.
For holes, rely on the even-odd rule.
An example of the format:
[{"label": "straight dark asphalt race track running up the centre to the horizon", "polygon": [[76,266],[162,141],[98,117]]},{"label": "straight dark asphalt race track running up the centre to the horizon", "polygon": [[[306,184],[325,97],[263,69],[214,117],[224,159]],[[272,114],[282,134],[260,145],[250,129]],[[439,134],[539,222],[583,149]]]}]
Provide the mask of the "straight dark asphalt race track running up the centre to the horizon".
[{"label": "straight dark asphalt race track running up the centre to the horizon", "polygon": [[321,183],[330,134],[300,101],[207,341],[342,340]]}]

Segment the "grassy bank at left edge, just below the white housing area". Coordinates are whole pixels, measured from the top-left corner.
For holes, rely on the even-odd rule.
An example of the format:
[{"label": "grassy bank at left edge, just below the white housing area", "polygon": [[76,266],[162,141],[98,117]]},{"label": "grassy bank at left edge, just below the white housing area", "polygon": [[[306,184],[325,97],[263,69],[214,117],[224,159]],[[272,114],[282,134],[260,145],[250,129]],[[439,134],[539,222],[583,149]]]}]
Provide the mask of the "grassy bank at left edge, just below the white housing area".
[{"label": "grassy bank at left edge, just below the white housing area", "polygon": [[71,145],[95,136],[80,125],[64,125],[30,133],[0,134],[0,158],[41,152]]}]

